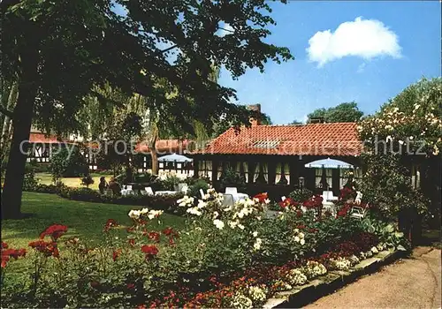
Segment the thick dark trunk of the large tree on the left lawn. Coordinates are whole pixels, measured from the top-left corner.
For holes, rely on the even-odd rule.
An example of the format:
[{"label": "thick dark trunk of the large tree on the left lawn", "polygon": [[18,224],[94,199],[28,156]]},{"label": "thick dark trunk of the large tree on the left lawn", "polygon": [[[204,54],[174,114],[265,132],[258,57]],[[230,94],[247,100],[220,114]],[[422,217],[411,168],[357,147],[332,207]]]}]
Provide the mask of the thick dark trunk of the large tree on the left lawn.
[{"label": "thick dark trunk of the large tree on the left lawn", "polygon": [[21,217],[21,192],[28,146],[28,143],[23,143],[23,141],[29,139],[31,131],[33,107],[37,93],[37,59],[38,49],[29,45],[23,47],[20,53],[22,73],[21,79],[19,79],[19,99],[14,109],[11,149],[4,177],[2,219],[19,219]]}]

